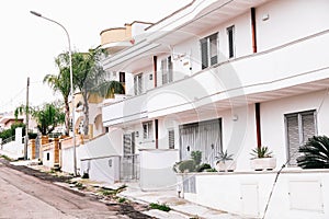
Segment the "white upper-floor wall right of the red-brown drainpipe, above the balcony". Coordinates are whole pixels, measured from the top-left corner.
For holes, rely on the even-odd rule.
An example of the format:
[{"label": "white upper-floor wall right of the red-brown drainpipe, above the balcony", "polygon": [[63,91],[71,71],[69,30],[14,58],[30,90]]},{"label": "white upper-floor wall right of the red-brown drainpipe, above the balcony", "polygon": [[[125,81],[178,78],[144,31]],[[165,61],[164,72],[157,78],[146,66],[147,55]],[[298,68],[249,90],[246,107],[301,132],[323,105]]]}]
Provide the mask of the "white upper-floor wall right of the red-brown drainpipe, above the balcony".
[{"label": "white upper-floor wall right of the red-brown drainpipe, above the balcony", "polygon": [[[256,9],[258,50],[329,28],[327,0],[275,0]],[[263,21],[262,18],[269,15]]]}]

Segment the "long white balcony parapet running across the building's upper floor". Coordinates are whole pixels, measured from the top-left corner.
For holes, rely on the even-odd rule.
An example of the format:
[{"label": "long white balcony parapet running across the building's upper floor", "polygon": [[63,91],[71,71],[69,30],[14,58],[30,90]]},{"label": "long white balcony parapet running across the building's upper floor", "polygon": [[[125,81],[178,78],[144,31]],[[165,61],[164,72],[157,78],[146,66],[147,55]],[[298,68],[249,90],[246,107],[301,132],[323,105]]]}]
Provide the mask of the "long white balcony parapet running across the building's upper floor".
[{"label": "long white balcony parapet running across the building's upper floor", "polygon": [[[138,118],[226,110],[327,88],[329,31],[220,62],[140,96],[103,108],[104,125]],[[242,97],[242,99],[241,99]]]}]

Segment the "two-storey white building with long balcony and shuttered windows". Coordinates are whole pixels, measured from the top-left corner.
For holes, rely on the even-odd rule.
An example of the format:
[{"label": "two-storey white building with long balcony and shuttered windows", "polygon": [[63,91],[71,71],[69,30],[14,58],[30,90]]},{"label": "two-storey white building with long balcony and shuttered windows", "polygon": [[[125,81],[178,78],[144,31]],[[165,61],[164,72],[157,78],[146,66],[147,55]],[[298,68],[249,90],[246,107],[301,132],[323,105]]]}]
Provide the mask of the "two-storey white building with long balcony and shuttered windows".
[{"label": "two-storey white building with long balcony and shuttered windows", "polygon": [[[328,11],[327,0],[194,0],[105,59],[107,71],[133,74],[132,96],[104,105],[102,119],[121,130],[127,163],[140,154],[140,184],[170,186],[174,161],[201,150],[213,165],[227,149],[236,172],[192,174],[185,198],[262,217],[287,162],[268,217],[328,218],[328,172],[296,168],[298,147],[329,135]],[[275,171],[250,169],[258,146],[273,151]]]}]

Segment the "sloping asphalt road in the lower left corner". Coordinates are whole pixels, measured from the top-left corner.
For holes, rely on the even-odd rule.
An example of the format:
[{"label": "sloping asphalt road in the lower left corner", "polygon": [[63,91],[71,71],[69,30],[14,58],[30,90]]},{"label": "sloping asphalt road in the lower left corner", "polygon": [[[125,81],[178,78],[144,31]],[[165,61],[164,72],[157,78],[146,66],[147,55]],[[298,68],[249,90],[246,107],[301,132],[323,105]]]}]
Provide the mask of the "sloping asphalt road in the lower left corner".
[{"label": "sloping asphalt road in the lower left corner", "polygon": [[107,206],[0,162],[1,219],[149,218],[140,212],[128,215],[122,207]]}]

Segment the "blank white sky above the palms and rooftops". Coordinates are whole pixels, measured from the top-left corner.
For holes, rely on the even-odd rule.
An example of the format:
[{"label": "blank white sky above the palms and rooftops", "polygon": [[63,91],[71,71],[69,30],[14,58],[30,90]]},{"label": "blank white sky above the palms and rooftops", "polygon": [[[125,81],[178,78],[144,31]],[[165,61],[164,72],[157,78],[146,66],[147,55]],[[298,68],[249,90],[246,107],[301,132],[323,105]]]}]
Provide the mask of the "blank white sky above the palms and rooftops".
[{"label": "blank white sky above the palms and rooftops", "polygon": [[0,113],[26,101],[30,104],[55,100],[43,79],[57,73],[54,59],[68,49],[63,28],[34,16],[36,11],[61,23],[69,32],[72,50],[86,51],[100,44],[100,32],[133,21],[157,22],[192,0],[8,0],[0,7],[1,83]]}]

